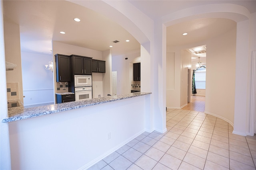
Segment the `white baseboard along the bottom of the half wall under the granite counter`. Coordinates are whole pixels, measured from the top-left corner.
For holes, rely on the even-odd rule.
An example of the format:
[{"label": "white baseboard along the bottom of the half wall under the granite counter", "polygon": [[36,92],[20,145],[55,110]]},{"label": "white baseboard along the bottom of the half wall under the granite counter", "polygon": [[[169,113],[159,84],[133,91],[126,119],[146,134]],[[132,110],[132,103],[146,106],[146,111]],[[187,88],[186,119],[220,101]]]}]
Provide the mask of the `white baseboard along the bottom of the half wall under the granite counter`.
[{"label": "white baseboard along the bottom of the half wall under the granite counter", "polygon": [[133,135],[132,137],[130,137],[129,139],[127,139],[126,141],[120,143],[119,145],[115,146],[114,148],[112,148],[111,150],[109,150],[108,152],[105,152],[104,154],[98,156],[98,158],[90,161],[89,163],[85,164],[84,166],[82,166],[81,168],[79,168],[78,170],[86,170],[88,168],[90,168],[91,166],[93,166],[94,164],[96,164],[97,162],[99,162],[100,160],[106,158],[108,155],[112,154],[113,152],[115,152],[116,150],[118,150],[119,148],[121,148],[122,146],[124,146],[126,143],[132,141],[133,139],[135,139],[136,137],[138,137],[139,135],[141,135],[143,131],[140,131],[138,133],[136,133],[135,135]]}]

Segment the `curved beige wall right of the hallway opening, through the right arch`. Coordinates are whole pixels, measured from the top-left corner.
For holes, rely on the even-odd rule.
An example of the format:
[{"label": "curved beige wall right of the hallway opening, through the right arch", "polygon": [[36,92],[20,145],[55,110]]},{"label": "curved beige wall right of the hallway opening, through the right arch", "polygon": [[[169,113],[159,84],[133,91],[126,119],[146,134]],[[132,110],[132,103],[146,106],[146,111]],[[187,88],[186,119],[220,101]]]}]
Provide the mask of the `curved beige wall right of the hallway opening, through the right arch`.
[{"label": "curved beige wall right of the hallway opening, through the right arch", "polygon": [[[207,45],[205,112],[218,115],[233,125],[236,27],[210,39]],[[218,106],[218,107],[216,107]]]}]

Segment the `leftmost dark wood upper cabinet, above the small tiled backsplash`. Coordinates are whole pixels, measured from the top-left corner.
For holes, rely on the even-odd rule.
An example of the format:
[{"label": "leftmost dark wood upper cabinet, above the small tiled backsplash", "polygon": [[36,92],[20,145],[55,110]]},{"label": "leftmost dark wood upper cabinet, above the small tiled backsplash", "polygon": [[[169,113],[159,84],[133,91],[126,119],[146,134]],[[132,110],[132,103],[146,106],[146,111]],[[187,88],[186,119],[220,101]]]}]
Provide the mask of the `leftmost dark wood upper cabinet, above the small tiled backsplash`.
[{"label": "leftmost dark wood upper cabinet, above the small tiled backsplash", "polygon": [[70,82],[70,56],[56,54],[56,81]]}]

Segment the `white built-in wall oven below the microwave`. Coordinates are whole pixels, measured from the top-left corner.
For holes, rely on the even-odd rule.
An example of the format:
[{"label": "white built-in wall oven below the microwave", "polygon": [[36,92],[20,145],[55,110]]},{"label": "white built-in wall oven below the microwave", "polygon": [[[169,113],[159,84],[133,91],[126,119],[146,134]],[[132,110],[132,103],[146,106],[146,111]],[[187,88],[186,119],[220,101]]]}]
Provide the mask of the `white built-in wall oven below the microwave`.
[{"label": "white built-in wall oven below the microwave", "polygon": [[76,101],[92,99],[92,87],[76,87],[75,98]]}]

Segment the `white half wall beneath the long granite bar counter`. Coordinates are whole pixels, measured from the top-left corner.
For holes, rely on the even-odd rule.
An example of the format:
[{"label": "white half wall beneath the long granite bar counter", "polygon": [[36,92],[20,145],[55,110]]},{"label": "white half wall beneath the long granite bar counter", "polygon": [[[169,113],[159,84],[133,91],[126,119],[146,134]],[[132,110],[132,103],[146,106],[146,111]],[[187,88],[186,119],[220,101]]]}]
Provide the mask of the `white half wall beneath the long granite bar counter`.
[{"label": "white half wall beneath the long granite bar counter", "polygon": [[9,123],[12,169],[92,166],[145,131],[148,98],[150,95]]}]

